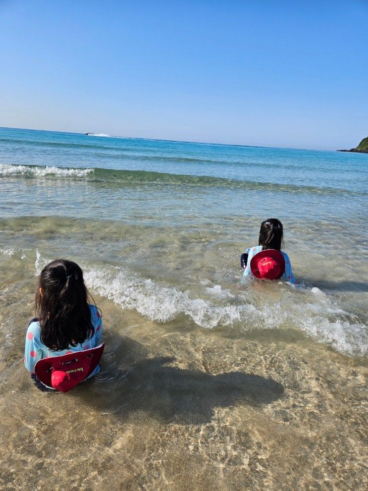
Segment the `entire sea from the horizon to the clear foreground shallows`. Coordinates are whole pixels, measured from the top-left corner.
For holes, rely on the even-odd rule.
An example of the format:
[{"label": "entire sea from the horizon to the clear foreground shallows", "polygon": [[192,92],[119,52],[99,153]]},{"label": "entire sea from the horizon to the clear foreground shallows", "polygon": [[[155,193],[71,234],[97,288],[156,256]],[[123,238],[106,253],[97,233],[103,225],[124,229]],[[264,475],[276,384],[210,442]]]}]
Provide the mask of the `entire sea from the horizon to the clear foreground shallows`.
[{"label": "entire sea from the horizon to the clear foreground shallows", "polygon": [[[56,489],[45,459],[60,490],[365,489],[367,165],[0,128],[3,489]],[[266,218],[297,286],[242,282]],[[37,274],[59,257],[82,267],[106,342],[66,395],[23,366]]]}]

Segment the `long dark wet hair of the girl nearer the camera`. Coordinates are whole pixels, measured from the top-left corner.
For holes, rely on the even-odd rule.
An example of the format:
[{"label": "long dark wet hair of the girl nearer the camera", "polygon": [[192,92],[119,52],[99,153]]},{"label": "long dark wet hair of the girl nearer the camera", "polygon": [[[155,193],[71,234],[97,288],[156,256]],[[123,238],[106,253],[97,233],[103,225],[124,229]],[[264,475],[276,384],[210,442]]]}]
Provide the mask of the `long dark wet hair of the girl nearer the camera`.
[{"label": "long dark wet hair of the girl nearer the camera", "polygon": [[83,272],[76,263],[56,259],[45,266],[38,280],[36,312],[41,341],[48,348],[61,351],[93,336],[89,298]]}]

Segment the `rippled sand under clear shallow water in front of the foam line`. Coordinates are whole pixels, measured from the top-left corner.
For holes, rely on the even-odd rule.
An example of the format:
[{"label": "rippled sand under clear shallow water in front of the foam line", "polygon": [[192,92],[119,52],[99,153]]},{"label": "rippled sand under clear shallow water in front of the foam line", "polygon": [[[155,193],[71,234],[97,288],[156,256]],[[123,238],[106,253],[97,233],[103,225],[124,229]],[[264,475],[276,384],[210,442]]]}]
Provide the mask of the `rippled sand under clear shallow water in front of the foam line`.
[{"label": "rippled sand under clear shallow water in front of the foam line", "polygon": [[160,324],[97,298],[101,374],[44,393],[23,366],[33,281],[22,288],[2,292],[1,490],[367,489],[359,359],[297,332]]}]

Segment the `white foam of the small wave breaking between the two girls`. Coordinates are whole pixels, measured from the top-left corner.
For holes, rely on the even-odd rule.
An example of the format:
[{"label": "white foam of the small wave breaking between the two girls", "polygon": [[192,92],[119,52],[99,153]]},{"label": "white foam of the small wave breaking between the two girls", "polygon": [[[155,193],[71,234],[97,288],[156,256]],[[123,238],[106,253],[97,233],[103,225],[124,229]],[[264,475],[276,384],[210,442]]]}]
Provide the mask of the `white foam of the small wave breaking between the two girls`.
[{"label": "white foam of the small wave breaking between the two girls", "polygon": [[[238,325],[242,329],[277,329],[292,324],[341,353],[367,354],[367,327],[340,319],[347,313],[331,307],[327,300],[320,304],[291,304],[288,299],[261,307],[251,303],[216,306],[121,268],[87,269],[85,278],[88,286],[100,295],[123,309],[136,309],[153,321],[167,322],[185,314],[205,328]],[[213,288],[216,292],[221,291],[218,286]]]}]

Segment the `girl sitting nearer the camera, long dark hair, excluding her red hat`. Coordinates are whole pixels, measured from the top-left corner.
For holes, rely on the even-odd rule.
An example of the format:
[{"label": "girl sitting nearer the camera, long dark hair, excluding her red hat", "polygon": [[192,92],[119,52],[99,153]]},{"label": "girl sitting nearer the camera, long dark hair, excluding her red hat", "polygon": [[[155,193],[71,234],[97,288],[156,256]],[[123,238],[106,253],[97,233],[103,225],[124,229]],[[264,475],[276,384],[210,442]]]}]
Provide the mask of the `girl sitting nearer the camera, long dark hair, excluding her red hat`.
[{"label": "girl sitting nearer the camera, long dark hair, excluding her red hat", "polygon": [[[76,263],[56,259],[42,270],[36,292],[38,318],[28,326],[24,353],[24,364],[39,388],[45,387],[34,373],[39,360],[101,343],[102,317],[88,300],[83,272]],[[97,365],[88,378],[99,371]]]}]

